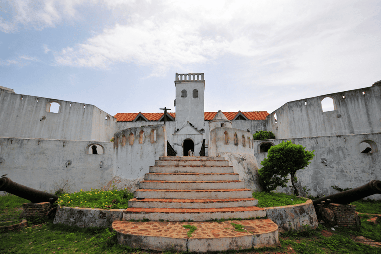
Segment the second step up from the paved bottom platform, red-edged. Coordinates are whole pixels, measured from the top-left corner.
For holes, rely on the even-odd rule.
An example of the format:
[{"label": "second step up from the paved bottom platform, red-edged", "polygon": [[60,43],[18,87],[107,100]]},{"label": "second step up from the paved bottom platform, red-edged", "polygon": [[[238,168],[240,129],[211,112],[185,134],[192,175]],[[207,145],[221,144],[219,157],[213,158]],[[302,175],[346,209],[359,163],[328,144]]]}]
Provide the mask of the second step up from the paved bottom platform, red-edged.
[{"label": "second step up from the paved bottom platform, red-edged", "polygon": [[139,208],[222,208],[256,206],[258,200],[254,198],[231,198],[231,199],[166,199],[145,198],[128,201],[128,207]]}]

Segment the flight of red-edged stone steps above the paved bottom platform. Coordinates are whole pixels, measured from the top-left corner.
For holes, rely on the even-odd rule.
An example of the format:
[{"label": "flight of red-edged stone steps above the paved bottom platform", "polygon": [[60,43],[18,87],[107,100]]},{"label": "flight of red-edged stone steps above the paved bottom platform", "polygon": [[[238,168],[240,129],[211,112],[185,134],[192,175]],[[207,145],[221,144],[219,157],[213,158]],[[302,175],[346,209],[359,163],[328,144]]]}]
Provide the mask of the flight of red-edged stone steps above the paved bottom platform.
[{"label": "flight of red-edged stone steps above the paved bottom platform", "polygon": [[264,209],[223,157],[160,157],[140,182],[124,220],[263,218]]}]

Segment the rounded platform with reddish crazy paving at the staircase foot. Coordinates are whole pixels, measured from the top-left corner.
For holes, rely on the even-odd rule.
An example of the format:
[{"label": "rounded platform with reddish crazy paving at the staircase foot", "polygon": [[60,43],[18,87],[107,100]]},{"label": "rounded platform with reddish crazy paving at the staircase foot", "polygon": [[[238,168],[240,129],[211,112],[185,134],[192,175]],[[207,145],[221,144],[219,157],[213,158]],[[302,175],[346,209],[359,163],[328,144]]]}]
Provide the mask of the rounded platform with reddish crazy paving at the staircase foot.
[{"label": "rounded platform with reddish crazy paving at the staircase foot", "polygon": [[[242,225],[244,232],[236,231],[231,223]],[[197,228],[190,238],[187,237],[189,229],[183,225]],[[114,221],[113,229],[117,231],[119,244],[161,251],[240,250],[273,246],[278,242],[278,227],[270,219],[224,222]]]}]

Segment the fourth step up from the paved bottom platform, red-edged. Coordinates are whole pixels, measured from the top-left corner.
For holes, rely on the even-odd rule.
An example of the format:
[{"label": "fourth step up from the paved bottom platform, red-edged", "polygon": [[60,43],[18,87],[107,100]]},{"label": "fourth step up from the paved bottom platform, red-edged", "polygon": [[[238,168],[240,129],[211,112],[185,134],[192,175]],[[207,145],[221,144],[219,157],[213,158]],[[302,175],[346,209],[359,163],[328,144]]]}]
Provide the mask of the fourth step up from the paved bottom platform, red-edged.
[{"label": "fourth step up from the paved bottom platform, red-edged", "polygon": [[241,189],[243,181],[141,181],[140,189],[169,189],[169,190],[204,190],[204,189]]}]

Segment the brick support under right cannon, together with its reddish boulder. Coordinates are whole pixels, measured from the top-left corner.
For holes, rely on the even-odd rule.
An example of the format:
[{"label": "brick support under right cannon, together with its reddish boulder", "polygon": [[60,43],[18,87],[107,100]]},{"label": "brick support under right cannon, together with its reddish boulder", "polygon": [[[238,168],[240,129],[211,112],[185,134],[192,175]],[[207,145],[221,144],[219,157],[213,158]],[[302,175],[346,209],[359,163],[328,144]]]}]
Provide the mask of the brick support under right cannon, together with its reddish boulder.
[{"label": "brick support under right cannon, together with its reddish boulder", "polygon": [[319,217],[329,225],[359,229],[360,219],[355,210],[356,206],[351,204],[327,204],[322,201],[317,205]]}]

